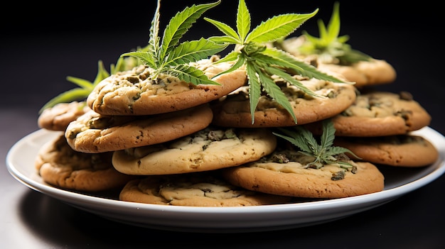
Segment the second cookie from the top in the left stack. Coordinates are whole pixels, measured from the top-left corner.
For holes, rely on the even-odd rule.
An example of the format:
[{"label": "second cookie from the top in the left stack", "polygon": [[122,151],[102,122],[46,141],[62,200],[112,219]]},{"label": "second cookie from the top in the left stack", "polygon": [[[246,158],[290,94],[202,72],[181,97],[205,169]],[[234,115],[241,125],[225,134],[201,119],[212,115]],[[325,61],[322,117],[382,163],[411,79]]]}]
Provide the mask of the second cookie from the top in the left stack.
[{"label": "second cookie from the top in the left stack", "polygon": [[68,125],[65,138],[73,150],[103,153],[180,138],[207,127],[212,118],[208,104],[149,116],[103,116],[90,110]]}]

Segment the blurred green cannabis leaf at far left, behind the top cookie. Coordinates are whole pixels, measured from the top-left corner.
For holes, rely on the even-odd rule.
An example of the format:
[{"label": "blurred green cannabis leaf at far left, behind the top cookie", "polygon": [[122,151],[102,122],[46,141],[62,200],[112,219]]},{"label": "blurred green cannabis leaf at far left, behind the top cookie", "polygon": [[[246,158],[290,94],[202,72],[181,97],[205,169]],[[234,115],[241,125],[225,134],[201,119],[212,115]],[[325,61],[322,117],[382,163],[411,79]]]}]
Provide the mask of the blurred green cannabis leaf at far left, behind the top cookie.
[{"label": "blurred green cannabis leaf at far left, behind the top cookie", "polygon": [[102,79],[109,77],[109,72],[105,70],[104,63],[102,62],[102,60],[99,60],[97,64],[98,64],[98,70],[96,78],[93,82],[90,82],[87,79],[80,79],[77,77],[68,76],[66,79],[69,82],[77,84],[77,86],[79,87],[70,89],[66,92],[58,94],[58,96],[55,96],[53,99],[50,99],[50,101],[48,101],[45,105],[42,106],[42,108],[38,111],[38,113],[41,114],[43,110],[53,107],[59,103],[68,103],[75,100],[85,99],[90,94],[92,89],[94,89],[95,86],[102,81]]}]

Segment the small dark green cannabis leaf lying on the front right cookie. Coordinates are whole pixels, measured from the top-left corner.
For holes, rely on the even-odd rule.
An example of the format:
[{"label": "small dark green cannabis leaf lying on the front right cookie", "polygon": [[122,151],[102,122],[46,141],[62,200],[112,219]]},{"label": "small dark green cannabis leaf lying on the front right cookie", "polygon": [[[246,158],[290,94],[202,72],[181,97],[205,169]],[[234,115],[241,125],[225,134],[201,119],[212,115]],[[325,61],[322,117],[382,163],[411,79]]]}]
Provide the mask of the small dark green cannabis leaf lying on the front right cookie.
[{"label": "small dark green cannabis leaf lying on the front right cookie", "polygon": [[316,138],[313,137],[313,134],[302,126],[294,126],[295,131],[286,128],[277,129],[285,135],[279,133],[274,133],[274,135],[284,138],[298,147],[301,150],[299,153],[315,157],[315,160],[307,165],[308,167],[316,167],[318,169],[323,167],[323,165],[338,164],[341,165],[341,167],[349,168],[352,167],[352,165],[343,160],[338,160],[336,156],[350,153],[357,157],[347,148],[333,146],[336,128],[334,128],[333,122],[329,118],[323,120],[323,133],[320,138],[320,144],[318,144]]}]

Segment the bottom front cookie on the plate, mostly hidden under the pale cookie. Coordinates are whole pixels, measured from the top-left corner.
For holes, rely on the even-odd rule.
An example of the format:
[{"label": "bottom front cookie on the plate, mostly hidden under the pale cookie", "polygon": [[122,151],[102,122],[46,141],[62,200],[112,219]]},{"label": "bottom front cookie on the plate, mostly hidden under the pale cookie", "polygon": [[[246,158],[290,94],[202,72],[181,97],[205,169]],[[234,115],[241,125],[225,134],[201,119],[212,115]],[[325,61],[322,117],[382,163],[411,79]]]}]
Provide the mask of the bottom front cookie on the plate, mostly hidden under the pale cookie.
[{"label": "bottom front cookie on the plate, mostly hidden under the pale cookie", "polygon": [[171,206],[259,206],[291,201],[289,197],[235,187],[208,172],[134,179],[125,185],[119,199]]}]

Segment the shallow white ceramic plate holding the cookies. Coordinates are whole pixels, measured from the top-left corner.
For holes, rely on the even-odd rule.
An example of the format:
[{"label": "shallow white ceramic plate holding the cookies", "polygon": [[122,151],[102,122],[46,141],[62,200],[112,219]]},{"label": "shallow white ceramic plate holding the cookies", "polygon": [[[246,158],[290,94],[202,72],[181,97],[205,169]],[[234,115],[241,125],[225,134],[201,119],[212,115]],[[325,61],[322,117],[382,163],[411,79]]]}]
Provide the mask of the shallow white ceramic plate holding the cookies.
[{"label": "shallow white ceramic plate holding the cookies", "polygon": [[325,223],[392,201],[429,184],[445,171],[444,135],[425,127],[414,134],[424,136],[436,146],[440,153],[439,160],[428,167],[383,168],[385,190],[382,192],[271,206],[192,207],[138,204],[119,201],[113,194],[92,196],[45,184],[36,173],[34,159],[43,143],[60,134],[39,130],[18,140],[6,156],[10,174],[31,189],[92,214],[134,226],[169,231],[234,233],[272,231]]}]

